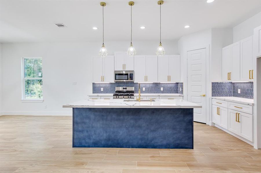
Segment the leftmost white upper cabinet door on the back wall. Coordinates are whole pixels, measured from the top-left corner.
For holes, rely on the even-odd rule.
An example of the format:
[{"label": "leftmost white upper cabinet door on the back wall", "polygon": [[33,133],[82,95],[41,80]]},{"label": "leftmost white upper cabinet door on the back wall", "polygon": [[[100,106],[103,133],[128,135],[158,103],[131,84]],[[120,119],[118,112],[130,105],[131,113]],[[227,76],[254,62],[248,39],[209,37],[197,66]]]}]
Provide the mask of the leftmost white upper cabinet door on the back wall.
[{"label": "leftmost white upper cabinet door on the back wall", "polygon": [[103,80],[103,58],[92,59],[92,82],[102,82]]}]

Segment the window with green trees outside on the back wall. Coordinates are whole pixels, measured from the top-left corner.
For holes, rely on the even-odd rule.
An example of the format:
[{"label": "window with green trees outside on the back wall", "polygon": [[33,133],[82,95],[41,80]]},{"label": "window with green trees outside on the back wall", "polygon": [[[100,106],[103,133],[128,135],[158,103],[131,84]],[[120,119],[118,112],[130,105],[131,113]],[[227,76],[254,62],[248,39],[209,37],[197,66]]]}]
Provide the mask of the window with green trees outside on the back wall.
[{"label": "window with green trees outside on the back wall", "polygon": [[22,58],[23,100],[43,99],[42,58]]}]

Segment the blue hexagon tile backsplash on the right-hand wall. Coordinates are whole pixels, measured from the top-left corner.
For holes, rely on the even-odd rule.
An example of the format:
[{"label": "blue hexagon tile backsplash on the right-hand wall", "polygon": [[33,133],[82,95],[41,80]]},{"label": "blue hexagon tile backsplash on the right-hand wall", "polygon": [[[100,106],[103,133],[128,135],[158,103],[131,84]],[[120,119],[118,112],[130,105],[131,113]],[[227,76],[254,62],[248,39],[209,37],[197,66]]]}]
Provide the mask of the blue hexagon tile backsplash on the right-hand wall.
[{"label": "blue hexagon tile backsplash on the right-hand wall", "polygon": [[[240,89],[240,94],[238,93]],[[212,82],[212,97],[254,98],[253,82]]]}]

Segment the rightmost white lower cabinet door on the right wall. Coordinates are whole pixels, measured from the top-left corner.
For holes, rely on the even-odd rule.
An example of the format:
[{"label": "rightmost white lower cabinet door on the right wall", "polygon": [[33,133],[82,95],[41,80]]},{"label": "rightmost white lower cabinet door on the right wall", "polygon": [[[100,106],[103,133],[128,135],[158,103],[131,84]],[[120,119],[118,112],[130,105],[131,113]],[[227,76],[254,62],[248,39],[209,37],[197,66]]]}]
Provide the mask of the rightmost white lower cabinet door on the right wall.
[{"label": "rightmost white lower cabinet door on the right wall", "polygon": [[253,115],[243,112],[238,113],[240,121],[239,136],[253,141]]}]

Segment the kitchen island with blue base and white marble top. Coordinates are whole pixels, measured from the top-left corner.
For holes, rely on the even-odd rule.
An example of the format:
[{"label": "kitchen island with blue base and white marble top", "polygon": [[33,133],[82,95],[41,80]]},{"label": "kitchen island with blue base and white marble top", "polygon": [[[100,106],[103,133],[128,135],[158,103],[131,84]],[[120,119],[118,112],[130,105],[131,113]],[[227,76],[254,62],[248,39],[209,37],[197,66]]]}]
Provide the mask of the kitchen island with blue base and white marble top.
[{"label": "kitchen island with blue base and white marble top", "polygon": [[193,148],[193,109],[202,106],[158,99],[85,99],[73,108],[73,147]]}]

